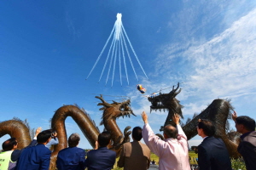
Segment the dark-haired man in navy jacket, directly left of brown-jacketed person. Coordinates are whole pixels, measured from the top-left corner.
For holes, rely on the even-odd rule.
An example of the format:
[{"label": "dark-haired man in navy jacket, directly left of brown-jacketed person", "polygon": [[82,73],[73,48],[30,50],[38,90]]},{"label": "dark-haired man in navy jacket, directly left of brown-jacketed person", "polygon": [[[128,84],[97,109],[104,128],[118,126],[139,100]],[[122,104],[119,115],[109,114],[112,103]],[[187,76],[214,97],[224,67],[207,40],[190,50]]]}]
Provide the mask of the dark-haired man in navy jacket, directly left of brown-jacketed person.
[{"label": "dark-haired man in navy jacket, directly left of brown-jacketed person", "polygon": [[108,132],[100,133],[96,141],[96,150],[87,153],[86,167],[88,170],[110,170],[115,162],[116,153],[108,150],[111,135]]}]

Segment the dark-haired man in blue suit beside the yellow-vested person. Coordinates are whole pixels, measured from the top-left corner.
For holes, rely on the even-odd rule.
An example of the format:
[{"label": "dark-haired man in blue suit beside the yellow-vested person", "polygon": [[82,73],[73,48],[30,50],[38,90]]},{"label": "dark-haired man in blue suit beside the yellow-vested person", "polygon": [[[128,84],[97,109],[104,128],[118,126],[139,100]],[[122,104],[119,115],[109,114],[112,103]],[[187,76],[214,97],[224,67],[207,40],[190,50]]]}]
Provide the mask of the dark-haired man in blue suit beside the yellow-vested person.
[{"label": "dark-haired man in blue suit beside the yellow-vested person", "polygon": [[38,144],[22,151],[17,161],[16,170],[48,170],[51,151],[45,147],[51,139],[51,131],[38,133]]}]

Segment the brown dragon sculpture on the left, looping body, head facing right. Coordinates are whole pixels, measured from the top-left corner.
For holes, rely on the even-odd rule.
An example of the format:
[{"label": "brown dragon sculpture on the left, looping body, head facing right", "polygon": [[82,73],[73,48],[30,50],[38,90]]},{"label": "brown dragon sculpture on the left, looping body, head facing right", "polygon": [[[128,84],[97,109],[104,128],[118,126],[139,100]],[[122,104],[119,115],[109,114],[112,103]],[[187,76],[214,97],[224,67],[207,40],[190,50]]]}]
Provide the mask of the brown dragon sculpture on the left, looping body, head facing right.
[{"label": "brown dragon sculpture on the left, looping body, head facing right", "polygon": [[[116,123],[116,118],[120,116],[134,115],[131,110],[131,101],[130,99],[121,103],[113,101],[112,104],[109,104],[102,98],[102,95],[96,96],[96,98],[102,100],[102,103],[98,104],[103,106],[100,109],[103,111],[101,125],[103,124],[105,129],[111,133],[111,138],[113,140],[113,144],[110,146],[110,149],[116,151],[117,156],[119,156],[122,144],[130,141],[129,135],[131,134],[131,131],[129,131],[129,129],[131,127],[125,127],[123,134]],[[51,128],[58,133],[59,144],[54,146],[49,169],[55,169],[57,153],[60,150],[67,148],[67,132],[65,127],[65,120],[67,116],[71,116],[78,124],[82,133],[84,133],[84,136],[88,139],[92,147],[95,147],[98,134],[100,133],[95,122],[90,119],[90,116],[84,111],[84,109],[79,109],[78,106],[74,105],[64,105],[59,108],[55,111],[55,115],[51,120]],[[18,149],[25,148],[32,141],[28,127],[20,121],[10,120],[0,122],[0,138],[5,134],[9,134],[12,138],[16,138],[18,140]]]}]

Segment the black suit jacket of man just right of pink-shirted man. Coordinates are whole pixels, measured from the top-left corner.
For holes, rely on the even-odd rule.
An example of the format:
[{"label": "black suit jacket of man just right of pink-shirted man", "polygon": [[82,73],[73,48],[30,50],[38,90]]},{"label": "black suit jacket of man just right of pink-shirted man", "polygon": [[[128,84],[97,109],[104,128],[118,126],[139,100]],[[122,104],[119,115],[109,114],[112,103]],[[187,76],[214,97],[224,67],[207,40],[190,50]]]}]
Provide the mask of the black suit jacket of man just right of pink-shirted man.
[{"label": "black suit jacket of man just right of pink-shirted man", "polygon": [[198,146],[200,170],[232,170],[230,155],[222,139],[207,137]]}]

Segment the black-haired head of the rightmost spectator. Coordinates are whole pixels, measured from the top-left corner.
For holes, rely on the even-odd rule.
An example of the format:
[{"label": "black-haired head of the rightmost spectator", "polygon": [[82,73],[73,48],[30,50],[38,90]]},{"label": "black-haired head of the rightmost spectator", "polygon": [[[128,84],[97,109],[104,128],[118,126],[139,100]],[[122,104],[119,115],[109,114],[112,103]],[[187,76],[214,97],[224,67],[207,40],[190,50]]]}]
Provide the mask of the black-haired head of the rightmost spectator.
[{"label": "black-haired head of the rightmost spectator", "polygon": [[[245,131],[247,131],[247,132],[252,132],[255,130],[255,121],[249,116],[236,117],[236,130],[239,133],[243,133],[243,132],[240,132],[241,128],[238,127],[240,125],[243,125],[243,128],[245,128]],[[247,132],[245,132],[245,133],[247,133]]]}]

